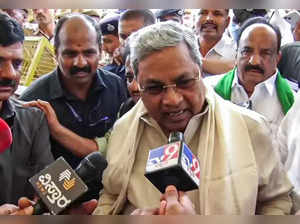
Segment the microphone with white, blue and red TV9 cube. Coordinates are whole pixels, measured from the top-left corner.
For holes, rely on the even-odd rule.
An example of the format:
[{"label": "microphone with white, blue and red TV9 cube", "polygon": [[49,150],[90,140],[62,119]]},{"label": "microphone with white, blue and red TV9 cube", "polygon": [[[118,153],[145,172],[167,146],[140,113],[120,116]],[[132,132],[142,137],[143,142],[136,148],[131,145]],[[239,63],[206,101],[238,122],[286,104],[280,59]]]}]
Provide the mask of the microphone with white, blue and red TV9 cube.
[{"label": "microphone with white, blue and red TV9 cube", "polygon": [[145,177],[161,192],[169,185],[180,191],[198,189],[200,164],[181,132],[172,132],[168,144],[149,151]]}]

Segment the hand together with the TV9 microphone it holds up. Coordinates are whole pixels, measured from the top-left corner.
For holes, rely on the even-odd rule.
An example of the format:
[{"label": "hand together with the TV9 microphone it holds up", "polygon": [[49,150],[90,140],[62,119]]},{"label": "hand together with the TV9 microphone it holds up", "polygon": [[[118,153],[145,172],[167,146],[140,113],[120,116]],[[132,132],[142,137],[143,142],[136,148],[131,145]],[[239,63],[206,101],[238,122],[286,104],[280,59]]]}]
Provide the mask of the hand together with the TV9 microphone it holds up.
[{"label": "hand together with the TV9 microphone it holds up", "polygon": [[167,145],[149,151],[145,176],[162,193],[160,207],[136,209],[132,215],[196,214],[184,191],[199,188],[200,164],[181,132],[171,133]]}]

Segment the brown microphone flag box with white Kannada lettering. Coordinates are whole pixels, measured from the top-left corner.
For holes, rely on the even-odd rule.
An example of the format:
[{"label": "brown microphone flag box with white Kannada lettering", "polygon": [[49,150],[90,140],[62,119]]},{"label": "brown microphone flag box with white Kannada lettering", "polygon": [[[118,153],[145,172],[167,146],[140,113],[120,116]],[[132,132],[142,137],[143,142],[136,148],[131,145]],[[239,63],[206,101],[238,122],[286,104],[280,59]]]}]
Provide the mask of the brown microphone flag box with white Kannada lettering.
[{"label": "brown microphone flag box with white Kannada lettering", "polygon": [[50,213],[57,215],[88,191],[88,187],[63,157],[29,179]]}]

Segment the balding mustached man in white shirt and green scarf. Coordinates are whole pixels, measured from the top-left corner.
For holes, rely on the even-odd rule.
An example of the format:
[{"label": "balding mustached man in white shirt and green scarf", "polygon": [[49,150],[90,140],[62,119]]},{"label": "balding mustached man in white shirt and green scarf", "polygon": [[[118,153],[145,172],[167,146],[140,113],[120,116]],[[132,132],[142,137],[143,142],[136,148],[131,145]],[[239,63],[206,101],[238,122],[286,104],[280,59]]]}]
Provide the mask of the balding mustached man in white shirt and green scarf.
[{"label": "balding mustached man in white shirt and green scarf", "polygon": [[[236,67],[209,78],[226,100],[264,115],[273,134],[294,102],[294,93],[277,69],[281,34],[263,17],[247,20],[238,35]],[[208,79],[208,80],[209,80]]]}]

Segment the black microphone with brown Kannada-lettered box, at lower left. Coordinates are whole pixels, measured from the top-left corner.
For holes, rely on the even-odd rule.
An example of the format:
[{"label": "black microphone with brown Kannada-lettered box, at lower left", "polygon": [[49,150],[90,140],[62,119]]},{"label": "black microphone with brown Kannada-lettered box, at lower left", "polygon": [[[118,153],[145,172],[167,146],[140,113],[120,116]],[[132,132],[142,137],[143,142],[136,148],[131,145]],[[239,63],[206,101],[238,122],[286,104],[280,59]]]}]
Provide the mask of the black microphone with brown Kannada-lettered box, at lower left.
[{"label": "black microphone with brown Kannada-lettered box, at lower left", "polygon": [[[107,161],[99,152],[87,155],[75,171],[64,160],[58,158],[54,163],[29,179],[40,199],[33,205],[33,215],[50,212],[60,214],[71,204],[90,200],[95,188],[102,186],[102,173]],[[95,186],[98,183],[98,186]],[[101,185],[101,186],[100,186]]]}]

